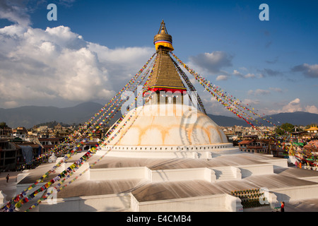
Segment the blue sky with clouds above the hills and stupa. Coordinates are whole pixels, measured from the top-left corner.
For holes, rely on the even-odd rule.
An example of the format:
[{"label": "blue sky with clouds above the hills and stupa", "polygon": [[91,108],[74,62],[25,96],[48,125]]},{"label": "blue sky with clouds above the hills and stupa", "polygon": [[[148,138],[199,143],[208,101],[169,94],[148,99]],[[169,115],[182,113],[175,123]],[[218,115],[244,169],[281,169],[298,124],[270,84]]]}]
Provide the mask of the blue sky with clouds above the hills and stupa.
[{"label": "blue sky with clouds above the hills and stupa", "polygon": [[[51,3],[57,5],[57,21],[47,20]],[[269,5],[268,21],[259,20],[263,3]],[[1,1],[0,107],[106,103],[155,52],[153,36],[165,20],[177,57],[230,95],[264,114],[318,114],[317,6]],[[232,116],[207,92],[199,94],[209,113]]]}]

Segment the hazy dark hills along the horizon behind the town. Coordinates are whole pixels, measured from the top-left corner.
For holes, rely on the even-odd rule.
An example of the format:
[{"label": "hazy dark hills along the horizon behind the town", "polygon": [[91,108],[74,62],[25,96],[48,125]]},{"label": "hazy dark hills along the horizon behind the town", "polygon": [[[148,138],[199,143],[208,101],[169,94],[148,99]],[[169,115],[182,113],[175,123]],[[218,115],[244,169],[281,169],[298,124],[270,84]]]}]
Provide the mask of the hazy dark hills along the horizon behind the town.
[{"label": "hazy dark hills along the horizon behind the town", "polygon": [[[58,121],[64,124],[79,124],[88,121],[102,107],[102,105],[96,102],[84,102],[80,105],[76,105],[75,107],[64,108],[38,106],[25,106],[11,109],[0,108],[0,122],[6,122],[6,124],[11,128],[24,126],[27,129],[34,125],[49,121]],[[120,116],[121,115],[117,115],[114,117],[110,124],[113,124]],[[239,119],[238,117],[226,117],[213,114],[208,114],[208,117],[215,121],[219,126],[250,126],[246,123],[246,121]],[[276,125],[280,125],[285,122],[303,126],[308,124],[318,124],[318,114],[308,112],[272,114],[265,116],[264,118]],[[266,123],[266,121],[262,119],[257,119],[257,121],[261,121],[261,123],[265,126],[271,126],[271,124]]]}]

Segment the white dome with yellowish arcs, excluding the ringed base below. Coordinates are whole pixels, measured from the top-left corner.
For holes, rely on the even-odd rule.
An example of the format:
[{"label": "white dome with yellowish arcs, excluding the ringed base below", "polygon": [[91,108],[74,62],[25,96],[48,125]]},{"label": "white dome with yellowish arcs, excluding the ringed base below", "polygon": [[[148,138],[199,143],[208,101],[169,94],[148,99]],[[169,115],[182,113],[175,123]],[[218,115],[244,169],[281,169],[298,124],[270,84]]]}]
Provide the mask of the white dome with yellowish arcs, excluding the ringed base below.
[{"label": "white dome with yellowish arcs, excluding the ringed base below", "polygon": [[[124,124],[126,124],[124,126]],[[228,143],[223,130],[189,105],[144,105],[131,110],[110,145],[208,145]],[[117,130],[118,130],[117,129]],[[114,131],[116,133],[117,131]]]}]

